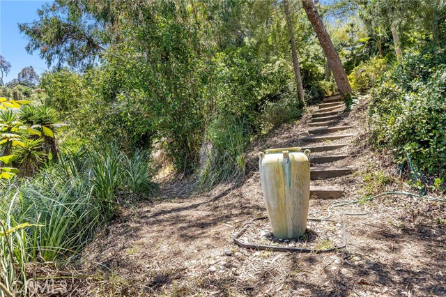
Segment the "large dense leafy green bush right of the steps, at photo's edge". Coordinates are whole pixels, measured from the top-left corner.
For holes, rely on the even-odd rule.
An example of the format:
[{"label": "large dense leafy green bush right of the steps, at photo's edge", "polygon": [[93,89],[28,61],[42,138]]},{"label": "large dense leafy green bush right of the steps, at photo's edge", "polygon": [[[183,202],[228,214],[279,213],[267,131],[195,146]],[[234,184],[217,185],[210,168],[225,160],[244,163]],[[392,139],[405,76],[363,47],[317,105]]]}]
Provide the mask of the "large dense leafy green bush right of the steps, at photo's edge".
[{"label": "large dense leafy green bush right of the steps, at photo's edge", "polygon": [[413,50],[371,90],[371,140],[432,176],[446,176],[446,54]]}]

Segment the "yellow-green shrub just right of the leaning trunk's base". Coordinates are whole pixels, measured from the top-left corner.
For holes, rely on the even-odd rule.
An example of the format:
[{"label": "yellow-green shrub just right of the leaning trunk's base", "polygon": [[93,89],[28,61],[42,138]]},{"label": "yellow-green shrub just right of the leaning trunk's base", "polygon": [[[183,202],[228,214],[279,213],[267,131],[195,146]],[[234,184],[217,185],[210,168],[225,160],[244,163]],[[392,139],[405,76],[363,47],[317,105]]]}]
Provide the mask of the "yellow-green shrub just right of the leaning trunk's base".
[{"label": "yellow-green shrub just right of the leaning trunk's base", "polygon": [[387,61],[376,56],[353,68],[352,73],[348,75],[348,81],[352,89],[366,91],[377,82],[386,69]]}]

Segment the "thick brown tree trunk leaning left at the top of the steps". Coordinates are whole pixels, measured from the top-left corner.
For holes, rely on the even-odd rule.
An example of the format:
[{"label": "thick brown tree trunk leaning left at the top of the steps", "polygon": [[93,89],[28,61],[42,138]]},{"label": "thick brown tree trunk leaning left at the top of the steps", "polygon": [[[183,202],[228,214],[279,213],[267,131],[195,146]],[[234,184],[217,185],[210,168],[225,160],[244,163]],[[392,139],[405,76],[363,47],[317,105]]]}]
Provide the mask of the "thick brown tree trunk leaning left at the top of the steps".
[{"label": "thick brown tree trunk leaning left at the top of the steps", "polygon": [[309,21],[312,23],[316,36],[318,36],[319,43],[321,43],[323,52],[327,57],[328,65],[332,70],[339,92],[341,92],[342,96],[347,96],[351,93],[351,86],[348,83],[346,72],[342,67],[341,59],[339,59],[339,55],[336,49],[334,49],[332,40],[323,25],[313,0],[302,0],[302,6],[305,9],[305,13],[307,13]]}]

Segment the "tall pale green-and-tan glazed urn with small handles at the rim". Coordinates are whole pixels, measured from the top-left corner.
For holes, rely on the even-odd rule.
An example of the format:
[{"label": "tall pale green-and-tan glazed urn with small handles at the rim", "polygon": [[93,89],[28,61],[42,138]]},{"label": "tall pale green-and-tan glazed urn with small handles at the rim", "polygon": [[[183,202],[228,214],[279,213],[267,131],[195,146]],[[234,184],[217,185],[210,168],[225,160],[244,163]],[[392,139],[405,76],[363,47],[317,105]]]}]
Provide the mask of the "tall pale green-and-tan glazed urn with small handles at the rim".
[{"label": "tall pale green-and-tan glazed urn with small handles at the rim", "polygon": [[263,199],[276,238],[298,238],[307,228],[309,150],[275,148],[259,153]]}]

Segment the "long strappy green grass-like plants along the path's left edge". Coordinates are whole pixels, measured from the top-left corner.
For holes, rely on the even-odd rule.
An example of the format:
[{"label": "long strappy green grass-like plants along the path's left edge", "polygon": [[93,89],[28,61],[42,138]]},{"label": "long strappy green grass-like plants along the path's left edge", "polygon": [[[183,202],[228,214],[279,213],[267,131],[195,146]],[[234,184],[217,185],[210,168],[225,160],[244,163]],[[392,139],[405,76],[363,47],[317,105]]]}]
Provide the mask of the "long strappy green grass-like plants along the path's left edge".
[{"label": "long strappy green grass-like plants along the path's left edge", "polygon": [[26,265],[77,256],[119,205],[157,191],[150,168],[146,153],[107,146],[64,154],[20,184],[3,181],[0,230],[9,231],[0,236],[0,281],[26,289]]}]

